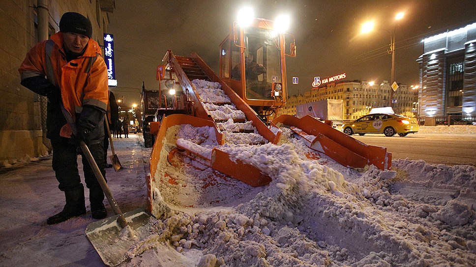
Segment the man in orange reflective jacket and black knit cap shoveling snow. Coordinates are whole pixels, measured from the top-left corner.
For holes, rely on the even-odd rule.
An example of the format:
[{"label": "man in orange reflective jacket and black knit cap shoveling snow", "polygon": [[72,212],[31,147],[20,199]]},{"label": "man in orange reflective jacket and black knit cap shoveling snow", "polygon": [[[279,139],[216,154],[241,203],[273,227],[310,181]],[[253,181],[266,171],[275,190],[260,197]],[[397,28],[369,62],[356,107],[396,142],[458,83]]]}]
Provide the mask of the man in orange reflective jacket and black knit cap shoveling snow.
[{"label": "man in orange reflective jacket and black knit cap shoveling snow", "polygon": [[[59,21],[59,32],[36,44],[27,53],[19,72],[21,84],[48,97],[47,134],[53,147],[53,169],[64,192],[66,204],[48,218],[56,224],[86,214],[84,187],[77,164],[77,147],[84,141],[103,176],[104,114],[108,103],[107,67],[101,49],[93,39],[89,19],[66,12]],[[107,216],[104,193],[82,157],[93,218]]]}]

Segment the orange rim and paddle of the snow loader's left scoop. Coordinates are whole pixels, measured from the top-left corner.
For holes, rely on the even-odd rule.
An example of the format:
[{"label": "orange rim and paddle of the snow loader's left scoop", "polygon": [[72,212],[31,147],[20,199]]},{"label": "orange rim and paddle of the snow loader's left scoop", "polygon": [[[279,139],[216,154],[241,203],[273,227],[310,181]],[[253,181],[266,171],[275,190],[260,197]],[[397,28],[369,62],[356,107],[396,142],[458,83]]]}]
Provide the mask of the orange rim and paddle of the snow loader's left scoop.
[{"label": "orange rim and paddle of the snow loader's left scoop", "polygon": [[[167,129],[181,124],[190,124],[193,127],[209,126],[215,129],[215,136],[218,144],[224,143],[223,134],[221,134],[216,124],[207,119],[193,117],[183,114],[172,114],[167,117],[164,116],[162,122],[151,122],[150,132],[156,135],[154,146],[150,155],[150,175],[147,177],[147,189],[148,189],[148,204],[149,211],[152,211],[153,201],[153,186],[155,183],[154,175],[157,171],[157,164],[160,160],[160,153],[163,146],[163,141],[167,133]],[[193,154],[193,153],[192,153]],[[193,159],[197,155],[186,155]],[[271,182],[271,178],[264,175],[260,170],[252,165],[245,164],[240,160],[233,161],[230,159],[230,155],[219,149],[213,149],[211,158],[209,160],[209,166],[221,173],[224,173],[230,177],[233,177],[241,182],[244,182],[253,187],[268,185]]]}]

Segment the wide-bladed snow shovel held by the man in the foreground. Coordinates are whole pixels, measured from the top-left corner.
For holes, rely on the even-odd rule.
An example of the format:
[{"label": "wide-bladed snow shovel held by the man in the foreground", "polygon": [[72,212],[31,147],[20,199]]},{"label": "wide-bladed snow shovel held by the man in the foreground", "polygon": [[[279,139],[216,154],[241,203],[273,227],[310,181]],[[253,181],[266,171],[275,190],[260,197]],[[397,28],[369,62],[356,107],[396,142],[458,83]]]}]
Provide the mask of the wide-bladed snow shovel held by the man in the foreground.
[{"label": "wide-bladed snow shovel held by the man in the foreground", "polygon": [[127,252],[134,246],[137,240],[148,236],[149,231],[145,225],[149,222],[152,215],[145,208],[123,214],[94,158],[92,158],[86,143],[81,141],[80,148],[104,191],[109,205],[111,205],[116,214],[113,217],[90,223],[86,227],[85,233],[104,264],[107,266],[118,266],[127,258]]}]

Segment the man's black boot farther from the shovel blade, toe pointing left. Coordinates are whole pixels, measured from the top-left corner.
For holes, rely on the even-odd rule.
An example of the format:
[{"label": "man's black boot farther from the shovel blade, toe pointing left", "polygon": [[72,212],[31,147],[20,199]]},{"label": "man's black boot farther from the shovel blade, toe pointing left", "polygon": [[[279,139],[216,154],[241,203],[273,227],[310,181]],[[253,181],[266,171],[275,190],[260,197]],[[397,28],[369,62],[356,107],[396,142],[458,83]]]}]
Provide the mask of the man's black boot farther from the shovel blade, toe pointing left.
[{"label": "man's black boot farther from the shovel blade, toe pointing left", "polygon": [[84,204],[84,188],[65,191],[66,205],[62,211],[48,218],[46,223],[57,224],[66,221],[75,216],[86,214],[86,206]]}]

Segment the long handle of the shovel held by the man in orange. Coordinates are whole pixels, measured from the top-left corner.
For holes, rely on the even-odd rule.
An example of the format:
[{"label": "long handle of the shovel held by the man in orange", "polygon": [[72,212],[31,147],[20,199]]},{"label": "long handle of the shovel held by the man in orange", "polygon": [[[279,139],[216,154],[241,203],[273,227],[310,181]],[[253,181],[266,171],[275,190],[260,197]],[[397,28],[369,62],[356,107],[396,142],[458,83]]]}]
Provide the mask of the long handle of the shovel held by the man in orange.
[{"label": "long handle of the shovel held by the man in orange", "polygon": [[111,190],[109,189],[106,180],[104,179],[104,176],[102,176],[101,171],[99,170],[99,167],[96,164],[96,161],[94,161],[94,158],[91,155],[91,152],[89,151],[88,146],[86,145],[85,142],[81,141],[79,143],[79,146],[81,147],[81,150],[83,151],[83,154],[85,155],[86,159],[89,162],[89,165],[91,166],[92,172],[94,172],[94,176],[96,176],[97,182],[99,182],[99,185],[101,186],[102,190],[104,191],[104,194],[106,195],[107,200],[109,201],[109,205],[113,208],[113,211],[116,215],[119,215],[118,222],[121,228],[124,228],[127,226],[127,221],[124,218],[124,215],[122,215],[122,212],[119,209],[119,205],[116,202],[116,199],[114,198],[113,194],[111,193]]}]

